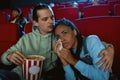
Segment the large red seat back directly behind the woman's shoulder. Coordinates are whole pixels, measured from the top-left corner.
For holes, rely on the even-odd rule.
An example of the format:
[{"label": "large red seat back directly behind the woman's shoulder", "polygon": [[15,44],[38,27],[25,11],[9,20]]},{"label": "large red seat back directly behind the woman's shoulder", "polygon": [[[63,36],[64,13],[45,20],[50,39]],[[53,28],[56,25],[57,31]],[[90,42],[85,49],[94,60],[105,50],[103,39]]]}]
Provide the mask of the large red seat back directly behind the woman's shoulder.
[{"label": "large red seat back directly behind the woman's shoulder", "polygon": [[[117,34],[120,33],[120,17],[101,16],[78,19],[75,21],[76,26],[83,35],[97,34],[102,40],[116,43],[120,40]],[[111,38],[111,36],[113,38]],[[119,40],[118,40],[119,38]],[[116,43],[116,45],[118,45]],[[119,45],[120,47],[120,45]],[[120,51],[119,51],[120,52]]]}]

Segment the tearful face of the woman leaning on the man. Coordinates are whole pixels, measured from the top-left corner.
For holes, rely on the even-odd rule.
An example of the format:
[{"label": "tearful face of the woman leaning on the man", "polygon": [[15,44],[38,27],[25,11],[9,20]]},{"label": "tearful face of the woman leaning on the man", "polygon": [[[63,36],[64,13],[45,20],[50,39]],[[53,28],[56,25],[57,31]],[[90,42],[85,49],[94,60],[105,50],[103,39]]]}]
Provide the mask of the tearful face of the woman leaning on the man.
[{"label": "tearful face of the woman leaning on the man", "polygon": [[64,25],[58,25],[55,29],[55,35],[61,39],[62,45],[66,49],[77,47],[76,31]]}]

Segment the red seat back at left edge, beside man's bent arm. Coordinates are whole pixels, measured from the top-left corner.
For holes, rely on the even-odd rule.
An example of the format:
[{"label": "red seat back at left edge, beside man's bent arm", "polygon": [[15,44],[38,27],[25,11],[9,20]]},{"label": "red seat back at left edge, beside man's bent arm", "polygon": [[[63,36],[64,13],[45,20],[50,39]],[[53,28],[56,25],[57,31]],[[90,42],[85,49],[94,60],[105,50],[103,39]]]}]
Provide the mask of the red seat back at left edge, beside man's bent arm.
[{"label": "red seat back at left edge, beside man's bent arm", "polygon": [[0,56],[21,37],[20,28],[17,24],[0,24]]}]

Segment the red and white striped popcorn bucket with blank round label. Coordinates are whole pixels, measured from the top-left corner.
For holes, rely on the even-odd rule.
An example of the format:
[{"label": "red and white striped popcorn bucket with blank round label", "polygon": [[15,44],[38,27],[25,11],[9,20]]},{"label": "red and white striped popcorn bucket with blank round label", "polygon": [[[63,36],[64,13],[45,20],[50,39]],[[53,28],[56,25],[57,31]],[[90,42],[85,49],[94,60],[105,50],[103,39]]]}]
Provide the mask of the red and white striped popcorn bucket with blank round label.
[{"label": "red and white striped popcorn bucket with blank round label", "polygon": [[40,80],[43,61],[45,57],[38,55],[30,55],[24,60],[23,80]]}]

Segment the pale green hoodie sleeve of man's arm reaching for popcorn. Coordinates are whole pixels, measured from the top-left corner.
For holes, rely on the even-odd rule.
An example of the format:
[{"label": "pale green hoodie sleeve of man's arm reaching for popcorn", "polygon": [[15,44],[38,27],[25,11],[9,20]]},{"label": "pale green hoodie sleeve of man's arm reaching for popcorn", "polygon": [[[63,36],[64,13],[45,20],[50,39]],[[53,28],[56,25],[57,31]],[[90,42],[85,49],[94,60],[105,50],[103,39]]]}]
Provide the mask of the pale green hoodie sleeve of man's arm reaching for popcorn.
[{"label": "pale green hoodie sleeve of man's arm reaching for popcorn", "polygon": [[21,43],[22,43],[22,38],[20,38],[20,40],[13,46],[11,46],[6,52],[4,52],[1,56],[1,61],[3,64],[5,65],[11,65],[12,63],[7,59],[7,56],[9,54],[11,54],[12,52],[15,52],[15,51],[21,51]]}]

